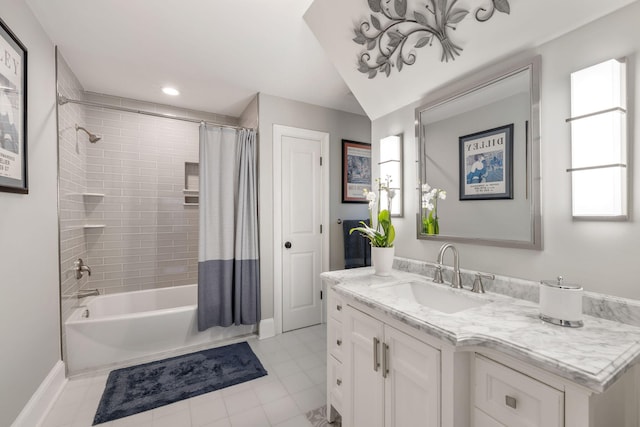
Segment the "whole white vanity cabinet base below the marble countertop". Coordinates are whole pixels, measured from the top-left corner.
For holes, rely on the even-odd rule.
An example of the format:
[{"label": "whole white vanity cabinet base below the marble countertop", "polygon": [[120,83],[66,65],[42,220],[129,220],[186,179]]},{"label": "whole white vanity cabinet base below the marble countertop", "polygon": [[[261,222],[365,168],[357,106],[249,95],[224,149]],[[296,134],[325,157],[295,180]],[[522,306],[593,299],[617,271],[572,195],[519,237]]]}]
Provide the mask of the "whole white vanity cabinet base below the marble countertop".
[{"label": "whole white vanity cabinet base below the marble countertop", "polygon": [[436,338],[357,293],[331,288],[328,301],[327,402],[344,427],[640,425],[638,365],[598,391],[489,341],[458,346]]}]

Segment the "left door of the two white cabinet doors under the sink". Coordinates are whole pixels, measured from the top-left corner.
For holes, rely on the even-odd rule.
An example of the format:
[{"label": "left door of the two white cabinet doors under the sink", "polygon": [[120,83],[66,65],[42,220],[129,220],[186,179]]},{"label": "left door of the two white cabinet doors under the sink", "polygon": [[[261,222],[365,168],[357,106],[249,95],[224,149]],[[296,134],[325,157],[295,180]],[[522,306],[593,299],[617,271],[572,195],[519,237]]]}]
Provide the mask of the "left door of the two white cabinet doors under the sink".
[{"label": "left door of the two white cabinet doors under the sink", "polygon": [[342,321],[345,338],[343,425],[383,427],[382,323],[350,306],[346,307]]}]

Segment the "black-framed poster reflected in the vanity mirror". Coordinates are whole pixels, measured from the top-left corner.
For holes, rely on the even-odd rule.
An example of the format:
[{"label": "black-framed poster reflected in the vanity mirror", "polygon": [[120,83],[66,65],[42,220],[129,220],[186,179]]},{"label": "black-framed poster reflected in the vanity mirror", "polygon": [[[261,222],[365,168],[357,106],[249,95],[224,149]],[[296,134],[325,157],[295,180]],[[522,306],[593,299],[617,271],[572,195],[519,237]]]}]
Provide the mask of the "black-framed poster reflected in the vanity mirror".
[{"label": "black-framed poster reflected in the vanity mirror", "polygon": [[513,123],[459,142],[460,200],[513,199]]}]

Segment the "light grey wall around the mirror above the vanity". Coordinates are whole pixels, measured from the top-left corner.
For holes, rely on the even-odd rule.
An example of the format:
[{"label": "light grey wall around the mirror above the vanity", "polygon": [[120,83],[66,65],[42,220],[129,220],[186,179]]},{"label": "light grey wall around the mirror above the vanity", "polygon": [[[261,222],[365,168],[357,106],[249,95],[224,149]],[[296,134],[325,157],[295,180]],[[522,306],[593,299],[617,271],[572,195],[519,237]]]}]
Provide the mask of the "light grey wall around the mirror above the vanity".
[{"label": "light grey wall around the mirror above the vanity", "polygon": [[[640,299],[640,175],[633,172],[640,163],[640,150],[632,149],[630,207],[632,219],[626,222],[573,221],[571,218],[570,73],[583,67],[627,56],[630,90],[630,146],[640,140],[640,99],[637,70],[640,61],[640,3],[621,9],[594,23],[543,45],[541,92],[542,145],[542,218],[544,250],[505,249],[477,245],[457,245],[463,268],[521,277],[530,280],[563,275],[585,289]],[[479,72],[478,72],[479,73]],[[474,74],[478,74],[474,73]],[[416,88],[416,92],[420,92]],[[635,100],[635,101],[634,101]],[[406,165],[416,159],[414,109],[406,106],[373,122],[374,142],[381,137],[404,132]],[[635,104],[635,105],[634,105]],[[375,150],[374,150],[375,154]],[[405,168],[405,182],[415,181],[415,171]],[[409,185],[408,185],[409,186]],[[407,193],[407,209],[417,211],[414,192]],[[443,204],[446,204],[444,201]],[[394,221],[396,254],[408,258],[434,260],[440,242],[416,239],[415,221],[411,215]],[[447,262],[450,262],[447,259]]]}]

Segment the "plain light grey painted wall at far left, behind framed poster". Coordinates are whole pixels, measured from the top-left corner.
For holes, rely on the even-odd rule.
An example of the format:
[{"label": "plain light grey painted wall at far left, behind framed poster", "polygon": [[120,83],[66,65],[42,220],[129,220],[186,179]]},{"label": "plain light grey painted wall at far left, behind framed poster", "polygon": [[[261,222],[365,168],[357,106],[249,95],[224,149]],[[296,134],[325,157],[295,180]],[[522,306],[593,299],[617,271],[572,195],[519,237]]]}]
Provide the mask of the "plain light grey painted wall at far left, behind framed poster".
[{"label": "plain light grey painted wall at far left, behind framed poster", "polygon": [[0,425],[9,426],[60,360],[54,46],[22,1],[2,20],[29,51],[29,194],[0,192]]}]

